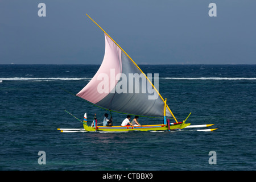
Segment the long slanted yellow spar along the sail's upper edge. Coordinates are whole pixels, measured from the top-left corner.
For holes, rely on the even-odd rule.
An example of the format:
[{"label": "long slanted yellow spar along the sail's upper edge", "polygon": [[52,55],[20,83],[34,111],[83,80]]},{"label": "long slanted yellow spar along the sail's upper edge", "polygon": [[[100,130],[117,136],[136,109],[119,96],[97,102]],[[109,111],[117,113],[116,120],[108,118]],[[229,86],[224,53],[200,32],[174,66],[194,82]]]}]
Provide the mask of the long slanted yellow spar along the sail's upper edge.
[{"label": "long slanted yellow spar along the sail's upper edge", "polygon": [[[88,14],[86,14],[89,18],[90,16]],[[100,27],[92,18],[90,18],[98,27]],[[101,28],[101,27],[100,27]],[[101,28],[102,31],[104,31]],[[152,87],[156,90],[156,93],[158,93],[159,97],[162,99],[162,101],[164,102],[164,104],[166,105],[167,109],[170,111],[172,117],[174,117],[175,121],[177,122],[177,119],[175,118],[174,114],[172,113],[170,107],[166,104],[166,101],[164,101],[163,97],[160,95],[160,93],[158,92],[158,90],[155,88],[155,86],[152,84],[152,82],[148,79],[148,77],[145,75],[145,73],[141,70],[141,68],[138,67],[138,65],[134,62],[133,59],[131,59],[131,57],[109,36],[109,34],[107,34],[105,31],[104,33],[123,51],[123,53],[126,54],[127,57],[130,58],[131,61],[133,61],[133,64],[139,69],[139,71],[142,72],[142,74],[147,78],[148,82],[150,82],[150,84],[152,85]],[[166,109],[164,110],[164,113],[166,113]],[[165,114],[164,114],[165,115]]]}]

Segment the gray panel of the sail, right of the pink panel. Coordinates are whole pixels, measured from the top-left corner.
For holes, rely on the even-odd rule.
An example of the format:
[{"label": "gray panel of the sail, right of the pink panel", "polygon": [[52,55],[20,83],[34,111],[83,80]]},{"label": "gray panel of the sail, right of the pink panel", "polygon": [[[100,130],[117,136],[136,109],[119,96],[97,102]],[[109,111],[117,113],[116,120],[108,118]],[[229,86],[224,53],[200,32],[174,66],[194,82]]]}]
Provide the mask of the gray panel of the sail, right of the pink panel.
[{"label": "gray panel of the sail, right of the pink panel", "polygon": [[[111,93],[109,93],[101,101],[97,102],[96,105],[123,113],[163,117],[164,102],[158,95],[158,97],[154,100],[148,99],[148,96],[152,96],[153,94],[158,93],[148,92],[148,89],[144,87],[144,80],[146,77],[142,75],[142,72],[123,51],[122,76],[115,86],[115,90],[112,90]],[[136,76],[139,76],[140,78],[138,79]],[[126,84],[122,81],[122,78],[125,77],[127,79]],[[131,81],[131,77],[136,78]],[[138,82],[135,79],[138,79]],[[148,85],[151,86],[150,82],[146,79],[146,86]],[[123,90],[124,92],[118,93],[118,88],[123,89],[123,86],[126,87],[126,89]],[[132,93],[131,90],[133,90]],[[166,111],[166,115],[167,117],[171,117],[171,113],[168,110]]]}]

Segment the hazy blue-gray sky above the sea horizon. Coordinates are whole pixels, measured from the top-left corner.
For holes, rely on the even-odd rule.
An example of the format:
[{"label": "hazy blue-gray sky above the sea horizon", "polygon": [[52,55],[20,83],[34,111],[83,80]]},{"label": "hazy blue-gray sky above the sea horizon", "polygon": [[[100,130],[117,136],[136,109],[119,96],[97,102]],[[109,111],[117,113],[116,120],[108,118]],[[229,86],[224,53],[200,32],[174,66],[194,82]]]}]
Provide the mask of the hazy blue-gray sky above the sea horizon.
[{"label": "hazy blue-gray sky above the sea horizon", "polygon": [[256,64],[253,0],[0,0],[0,64],[101,64],[86,14],[137,64]]}]

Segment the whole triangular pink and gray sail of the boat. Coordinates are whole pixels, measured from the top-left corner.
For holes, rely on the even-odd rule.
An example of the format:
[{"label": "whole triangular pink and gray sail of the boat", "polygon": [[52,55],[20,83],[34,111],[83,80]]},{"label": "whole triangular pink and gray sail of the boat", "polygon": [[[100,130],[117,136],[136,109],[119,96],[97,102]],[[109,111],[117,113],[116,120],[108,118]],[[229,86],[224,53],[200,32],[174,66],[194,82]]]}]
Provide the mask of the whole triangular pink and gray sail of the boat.
[{"label": "whole triangular pink and gray sail of the boat", "polygon": [[[100,68],[76,96],[98,106],[135,115],[164,115],[164,102],[152,81],[130,57],[105,35],[105,55]],[[172,117],[166,109],[166,116]]]}]

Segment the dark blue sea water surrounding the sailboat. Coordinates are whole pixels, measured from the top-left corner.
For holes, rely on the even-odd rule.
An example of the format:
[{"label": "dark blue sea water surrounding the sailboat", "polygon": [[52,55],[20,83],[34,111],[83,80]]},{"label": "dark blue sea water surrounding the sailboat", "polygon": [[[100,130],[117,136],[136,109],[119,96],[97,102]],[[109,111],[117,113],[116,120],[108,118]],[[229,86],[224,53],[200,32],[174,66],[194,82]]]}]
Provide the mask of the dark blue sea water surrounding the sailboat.
[{"label": "dark blue sea water surrounding the sailboat", "polygon": [[[256,65],[140,65],[179,121],[211,132],[60,133],[104,110],[78,93],[100,65],[0,65],[0,170],[255,170]],[[61,89],[63,88],[63,89]],[[114,122],[126,115],[113,113]],[[139,122],[162,123],[139,118]],[[46,152],[40,165],[39,151]],[[216,163],[209,164],[210,151]]]}]

